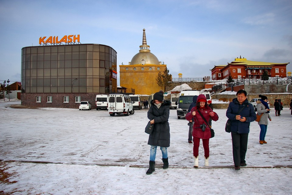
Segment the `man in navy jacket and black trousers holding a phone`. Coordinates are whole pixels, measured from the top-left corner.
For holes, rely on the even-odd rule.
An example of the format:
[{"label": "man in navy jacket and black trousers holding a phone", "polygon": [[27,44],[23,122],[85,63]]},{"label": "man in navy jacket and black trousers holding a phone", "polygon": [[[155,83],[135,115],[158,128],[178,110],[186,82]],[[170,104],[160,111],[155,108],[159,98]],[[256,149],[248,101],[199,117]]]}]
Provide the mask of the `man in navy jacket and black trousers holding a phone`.
[{"label": "man in navy jacket and black trousers holding a phone", "polygon": [[[249,137],[250,122],[255,121],[256,114],[252,104],[247,100],[245,90],[239,90],[226,111],[226,116],[231,120],[232,153],[235,170],[245,166],[245,153]],[[240,112],[239,112],[240,111]]]}]

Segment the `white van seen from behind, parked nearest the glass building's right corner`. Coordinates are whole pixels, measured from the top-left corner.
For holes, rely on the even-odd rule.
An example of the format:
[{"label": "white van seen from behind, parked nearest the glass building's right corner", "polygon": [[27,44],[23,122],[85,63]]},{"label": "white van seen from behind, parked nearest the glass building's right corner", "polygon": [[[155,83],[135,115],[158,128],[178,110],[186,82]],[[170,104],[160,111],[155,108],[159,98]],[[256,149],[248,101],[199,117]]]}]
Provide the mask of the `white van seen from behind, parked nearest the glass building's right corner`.
[{"label": "white van seen from behind, parked nearest the glass building's right corner", "polygon": [[114,116],[115,114],[124,114],[125,116],[129,116],[129,113],[131,115],[134,114],[130,96],[127,94],[109,94],[107,111],[110,116]]}]

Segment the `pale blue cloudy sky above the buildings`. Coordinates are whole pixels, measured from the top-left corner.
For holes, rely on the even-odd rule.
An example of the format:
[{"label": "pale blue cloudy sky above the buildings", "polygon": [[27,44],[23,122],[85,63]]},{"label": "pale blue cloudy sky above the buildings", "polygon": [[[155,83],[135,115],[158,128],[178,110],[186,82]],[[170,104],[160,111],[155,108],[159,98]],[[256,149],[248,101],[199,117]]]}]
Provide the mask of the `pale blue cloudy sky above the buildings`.
[{"label": "pale blue cloudy sky above the buildings", "polygon": [[117,66],[127,65],[139,52],[143,28],[151,53],[173,78],[211,76],[215,65],[240,55],[288,63],[291,10],[290,0],[0,0],[0,83],[21,80],[21,48],[38,46],[44,36],[80,34],[82,44],[108,45],[117,51]]}]

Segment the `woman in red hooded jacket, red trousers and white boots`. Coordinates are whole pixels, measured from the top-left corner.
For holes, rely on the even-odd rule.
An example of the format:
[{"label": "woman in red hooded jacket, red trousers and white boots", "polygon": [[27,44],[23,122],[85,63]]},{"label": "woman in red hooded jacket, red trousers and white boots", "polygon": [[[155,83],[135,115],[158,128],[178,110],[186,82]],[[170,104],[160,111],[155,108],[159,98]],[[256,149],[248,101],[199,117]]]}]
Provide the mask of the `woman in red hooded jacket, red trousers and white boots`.
[{"label": "woman in red hooded jacket, red trousers and white boots", "polygon": [[[200,139],[203,141],[204,153],[205,153],[205,164],[204,166],[209,166],[209,139],[211,138],[211,131],[205,120],[202,118],[200,113],[208,122],[211,118],[213,121],[218,120],[218,115],[216,112],[207,106],[207,99],[205,95],[200,94],[197,98],[196,106],[191,109],[191,111],[186,115],[186,120],[193,120],[193,154],[194,154],[194,167],[199,166],[199,146]],[[200,112],[200,113],[199,113]]]}]

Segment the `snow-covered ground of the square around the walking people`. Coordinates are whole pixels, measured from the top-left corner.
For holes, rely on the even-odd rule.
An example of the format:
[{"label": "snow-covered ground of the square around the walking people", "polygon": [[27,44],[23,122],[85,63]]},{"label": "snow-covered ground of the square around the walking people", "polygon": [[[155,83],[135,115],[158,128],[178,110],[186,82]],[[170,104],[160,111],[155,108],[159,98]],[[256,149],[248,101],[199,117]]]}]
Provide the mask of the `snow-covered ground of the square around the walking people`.
[{"label": "snow-covered ground of the square around the walking people", "polygon": [[224,131],[226,109],[214,109],[219,120],[212,124],[209,168],[202,166],[202,146],[200,168],[193,168],[187,121],[170,110],[170,168],[161,168],[158,150],[158,167],[146,175],[147,110],[112,117],[105,110],[7,107],[13,104],[20,102],[0,102],[0,194],[292,194],[289,108],[280,117],[272,110],[268,144],[259,144],[259,126],[251,123],[247,167],[239,171]]}]

